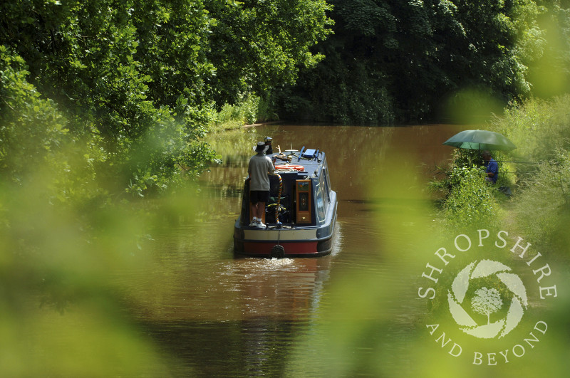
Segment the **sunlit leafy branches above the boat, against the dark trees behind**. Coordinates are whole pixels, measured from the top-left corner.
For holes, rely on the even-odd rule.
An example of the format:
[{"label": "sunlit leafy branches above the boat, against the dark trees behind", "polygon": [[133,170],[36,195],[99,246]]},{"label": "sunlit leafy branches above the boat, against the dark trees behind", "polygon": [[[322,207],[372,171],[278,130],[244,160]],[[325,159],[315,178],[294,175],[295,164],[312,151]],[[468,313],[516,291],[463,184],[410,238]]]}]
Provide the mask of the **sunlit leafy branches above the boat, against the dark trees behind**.
[{"label": "sunlit leafy branches above the boat, against the dark trees behind", "polygon": [[217,73],[210,81],[218,104],[234,103],[242,93],[265,93],[297,79],[321,53],[310,48],[330,33],[324,0],[204,1],[216,20],[209,61]]}]

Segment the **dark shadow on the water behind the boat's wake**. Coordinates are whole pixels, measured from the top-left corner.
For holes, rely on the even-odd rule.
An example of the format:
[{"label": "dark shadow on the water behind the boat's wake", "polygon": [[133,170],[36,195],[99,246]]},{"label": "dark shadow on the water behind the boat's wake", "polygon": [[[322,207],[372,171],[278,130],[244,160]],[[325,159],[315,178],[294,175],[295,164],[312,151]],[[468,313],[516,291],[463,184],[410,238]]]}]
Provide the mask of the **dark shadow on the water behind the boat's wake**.
[{"label": "dark shadow on the water behind the boat's wake", "polygon": [[255,318],[231,322],[145,324],[175,377],[282,377],[307,322]]}]

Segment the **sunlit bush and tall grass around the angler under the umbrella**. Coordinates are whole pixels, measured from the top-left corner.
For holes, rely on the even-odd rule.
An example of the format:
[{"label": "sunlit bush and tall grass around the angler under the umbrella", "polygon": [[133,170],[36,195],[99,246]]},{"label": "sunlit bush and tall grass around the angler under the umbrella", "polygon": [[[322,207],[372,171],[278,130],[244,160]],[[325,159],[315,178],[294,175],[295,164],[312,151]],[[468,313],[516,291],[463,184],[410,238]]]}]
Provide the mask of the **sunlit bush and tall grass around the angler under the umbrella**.
[{"label": "sunlit bush and tall grass around the angler under the umbrella", "polygon": [[[439,219],[457,227],[508,222],[537,246],[570,245],[570,95],[531,99],[507,108],[489,128],[517,149],[495,153],[499,181],[484,183],[477,152],[455,152],[445,178],[430,183],[442,194]],[[507,163],[510,162],[510,163]],[[497,190],[510,187],[512,196]]]}]

